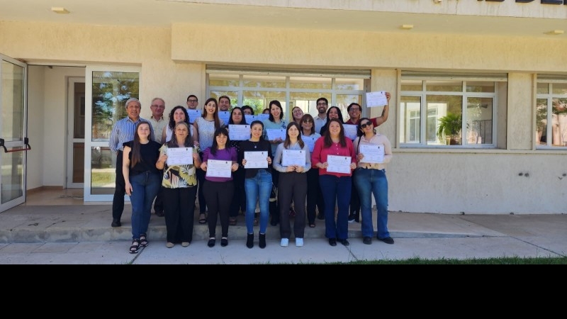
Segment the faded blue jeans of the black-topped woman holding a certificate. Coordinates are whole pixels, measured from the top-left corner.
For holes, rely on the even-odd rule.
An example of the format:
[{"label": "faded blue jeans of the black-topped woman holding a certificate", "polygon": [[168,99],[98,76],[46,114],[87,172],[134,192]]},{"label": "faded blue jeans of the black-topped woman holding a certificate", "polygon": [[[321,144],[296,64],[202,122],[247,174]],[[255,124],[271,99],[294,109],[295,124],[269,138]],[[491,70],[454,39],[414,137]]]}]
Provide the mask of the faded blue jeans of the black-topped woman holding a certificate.
[{"label": "faded blue jeans of the black-topped woman holding a certificate", "polygon": [[271,174],[260,169],[255,177],[245,179],[246,190],[246,229],[249,234],[254,233],[254,212],[256,201],[260,206],[260,233],[265,234],[268,228],[269,203],[271,193]]}]

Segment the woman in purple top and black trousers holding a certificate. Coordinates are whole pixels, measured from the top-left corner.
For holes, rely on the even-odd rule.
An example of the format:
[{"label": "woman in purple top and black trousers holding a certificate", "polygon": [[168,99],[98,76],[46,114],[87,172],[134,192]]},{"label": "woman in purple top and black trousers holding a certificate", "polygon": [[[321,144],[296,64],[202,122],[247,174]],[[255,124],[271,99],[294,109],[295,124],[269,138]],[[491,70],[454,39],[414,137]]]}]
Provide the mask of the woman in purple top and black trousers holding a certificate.
[{"label": "woman in purple top and black trousers holding a certificate", "polygon": [[[206,172],[205,184],[203,186],[203,195],[208,207],[208,247],[215,246],[215,231],[217,229],[217,216],[220,216],[221,238],[220,245],[225,247],[228,245],[228,213],[230,202],[234,194],[235,185],[232,181],[232,172],[238,169],[237,152],[234,147],[227,147],[230,139],[228,138],[228,130],[226,128],[217,128],[213,136],[213,146],[207,147],[203,152],[203,163],[201,169]],[[209,176],[207,172],[208,160],[215,159],[220,161],[231,162],[230,177]]]}]

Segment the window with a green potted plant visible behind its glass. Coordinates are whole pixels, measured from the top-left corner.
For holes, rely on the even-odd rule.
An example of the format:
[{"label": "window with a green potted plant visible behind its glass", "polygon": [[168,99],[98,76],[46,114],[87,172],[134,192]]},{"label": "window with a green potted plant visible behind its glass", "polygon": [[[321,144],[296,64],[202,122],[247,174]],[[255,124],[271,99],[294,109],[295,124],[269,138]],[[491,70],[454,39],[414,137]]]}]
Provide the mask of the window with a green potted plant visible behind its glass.
[{"label": "window with a green potted plant visible behind its glass", "polygon": [[505,74],[402,72],[402,147],[495,147],[498,89],[506,81]]}]

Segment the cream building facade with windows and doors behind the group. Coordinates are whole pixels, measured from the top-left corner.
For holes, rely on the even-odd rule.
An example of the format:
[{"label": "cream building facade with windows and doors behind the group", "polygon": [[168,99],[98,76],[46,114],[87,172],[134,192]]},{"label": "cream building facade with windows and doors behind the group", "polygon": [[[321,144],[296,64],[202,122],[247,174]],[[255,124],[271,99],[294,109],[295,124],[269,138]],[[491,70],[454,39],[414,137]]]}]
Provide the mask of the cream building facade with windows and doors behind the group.
[{"label": "cream building facade with windows and doors behind the group", "polygon": [[[67,14],[43,2],[0,9],[3,73],[27,70],[25,189],[111,201],[108,128],[128,96],[144,118],[152,98],[167,115],[189,94],[199,107],[279,99],[287,117],[325,96],[375,117],[366,93],[389,91],[390,211],[567,212],[567,2],[62,1]],[[454,136],[438,134],[445,116]]]}]

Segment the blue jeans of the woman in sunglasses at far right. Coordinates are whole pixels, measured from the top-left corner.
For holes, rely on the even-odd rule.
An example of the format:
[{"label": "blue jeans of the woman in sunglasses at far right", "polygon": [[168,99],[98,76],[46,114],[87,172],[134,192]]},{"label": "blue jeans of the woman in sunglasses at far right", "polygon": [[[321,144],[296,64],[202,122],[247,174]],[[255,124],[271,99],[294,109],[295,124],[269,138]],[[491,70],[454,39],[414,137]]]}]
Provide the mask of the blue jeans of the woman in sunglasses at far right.
[{"label": "blue jeans of the woman in sunglasses at far right", "polygon": [[376,237],[390,237],[388,232],[388,179],[386,169],[357,169],[354,184],[360,196],[362,237],[374,237],[372,228],[372,195],[376,201]]}]

